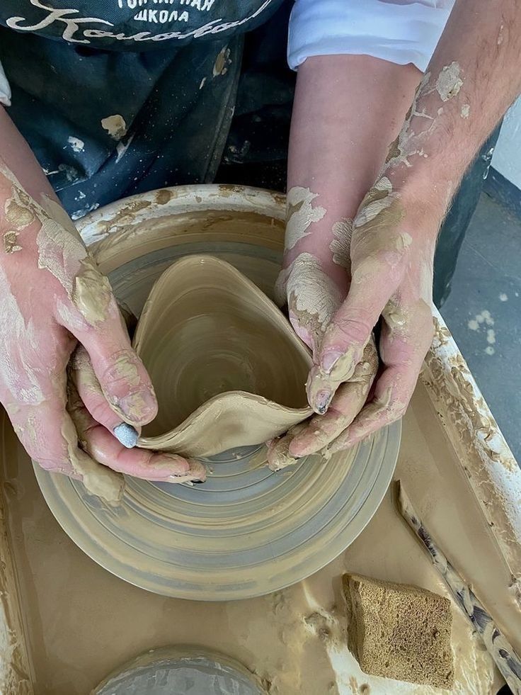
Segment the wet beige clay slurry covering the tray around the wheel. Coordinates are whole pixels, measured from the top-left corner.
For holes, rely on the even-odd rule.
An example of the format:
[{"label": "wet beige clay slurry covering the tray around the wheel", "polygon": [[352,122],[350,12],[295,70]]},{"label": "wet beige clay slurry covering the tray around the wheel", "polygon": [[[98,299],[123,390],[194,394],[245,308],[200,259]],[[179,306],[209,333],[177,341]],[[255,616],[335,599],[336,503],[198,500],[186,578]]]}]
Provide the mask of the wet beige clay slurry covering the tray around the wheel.
[{"label": "wet beige clay slurry covering the tray around the wheel", "polygon": [[[519,649],[520,618],[509,600],[508,572],[422,386],[404,426],[396,477]],[[30,460],[7,423],[5,428],[4,495],[38,695],[85,695],[118,664],[156,645],[176,643],[236,658],[270,684],[270,695],[357,695],[364,684],[374,695],[442,695],[426,686],[367,676],[346,647],[343,572],[417,584],[448,596],[396,514],[391,492],[343,555],[294,587],[246,601],[168,599],[122,582],[74,545],[47,509]],[[210,538],[208,543],[210,550]],[[64,601],[67,611],[57,610]],[[456,606],[453,621],[452,693],[496,693],[491,658]]]}]

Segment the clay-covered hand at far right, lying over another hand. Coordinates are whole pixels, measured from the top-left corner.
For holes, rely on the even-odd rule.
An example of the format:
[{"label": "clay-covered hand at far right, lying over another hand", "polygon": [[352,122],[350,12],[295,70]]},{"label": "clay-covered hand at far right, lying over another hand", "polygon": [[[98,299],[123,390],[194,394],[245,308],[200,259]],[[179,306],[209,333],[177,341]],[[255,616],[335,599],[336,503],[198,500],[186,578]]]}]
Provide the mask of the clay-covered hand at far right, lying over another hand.
[{"label": "clay-covered hand at far right, lying over another hand", "polygon": [[[425,212],[425,205],[407,202],[394,192],[387,176],[362,201],[350,236],[348,295],[321,339],[309,375],[310,404],[316,412],[328,409],[324,418],[336,410],[336,400],[346,388],[340,385],[353,379],[358,384],[360,397],[353,398],[343,420],[347,429],[339,436],[334,432],[332,452],[353,446],[406,410],[433,339],[433,256],[439,222],[439,216]],[[359,413],[369,389],[362,388],[357,375],[370,373],[365,377],[369,385],[374,378],[376,359],[371,369],[365,365],[374,356],[372,330],[380,317],[383,371]],[[313,425],[310,429],[292,442],[293,456],[313,453],[317,444],[326,443],[315,435]]]}]

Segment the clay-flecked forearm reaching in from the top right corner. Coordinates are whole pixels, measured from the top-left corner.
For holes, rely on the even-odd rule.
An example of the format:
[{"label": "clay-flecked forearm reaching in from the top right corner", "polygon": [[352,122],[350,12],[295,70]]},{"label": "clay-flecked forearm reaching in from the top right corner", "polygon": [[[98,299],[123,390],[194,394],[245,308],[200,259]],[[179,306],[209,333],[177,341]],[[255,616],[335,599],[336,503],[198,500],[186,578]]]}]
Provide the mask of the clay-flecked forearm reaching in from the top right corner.
[{"label": "clay-flecked forearm reaching in from the top right corner", "polygon": [[494,125],[521,91],[521,3],[457,0],[391,147],[386,175],[440,217]]}]

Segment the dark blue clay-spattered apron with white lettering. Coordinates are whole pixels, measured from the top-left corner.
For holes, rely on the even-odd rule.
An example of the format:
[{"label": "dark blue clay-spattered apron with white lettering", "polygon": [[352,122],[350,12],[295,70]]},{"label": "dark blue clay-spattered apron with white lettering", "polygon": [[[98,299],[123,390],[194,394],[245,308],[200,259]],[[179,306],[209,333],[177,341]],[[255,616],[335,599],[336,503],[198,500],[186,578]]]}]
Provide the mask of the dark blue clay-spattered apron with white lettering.
[{"label": "dark blue clay-spattered apron with white lettering", "polygon": [[133,193],[214,180],[244,32],[282,2],[1,0],[8,113],[74,219]]}]

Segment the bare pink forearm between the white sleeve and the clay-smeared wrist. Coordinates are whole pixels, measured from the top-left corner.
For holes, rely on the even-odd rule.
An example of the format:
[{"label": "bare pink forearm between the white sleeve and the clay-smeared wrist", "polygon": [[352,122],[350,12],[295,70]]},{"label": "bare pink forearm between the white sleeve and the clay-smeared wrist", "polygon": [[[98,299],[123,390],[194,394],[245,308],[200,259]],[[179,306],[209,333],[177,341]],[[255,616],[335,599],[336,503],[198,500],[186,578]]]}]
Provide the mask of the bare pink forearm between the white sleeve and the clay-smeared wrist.
[{"label": "bare pink forearm between the white sleeve and the clay-smeared wrist", "polygon": [[384,164],[413,100],[420,71],[367,55],[308,58],[295,91],[288,191],[304,186],[326,209],[314,225],[353,217]]}]

